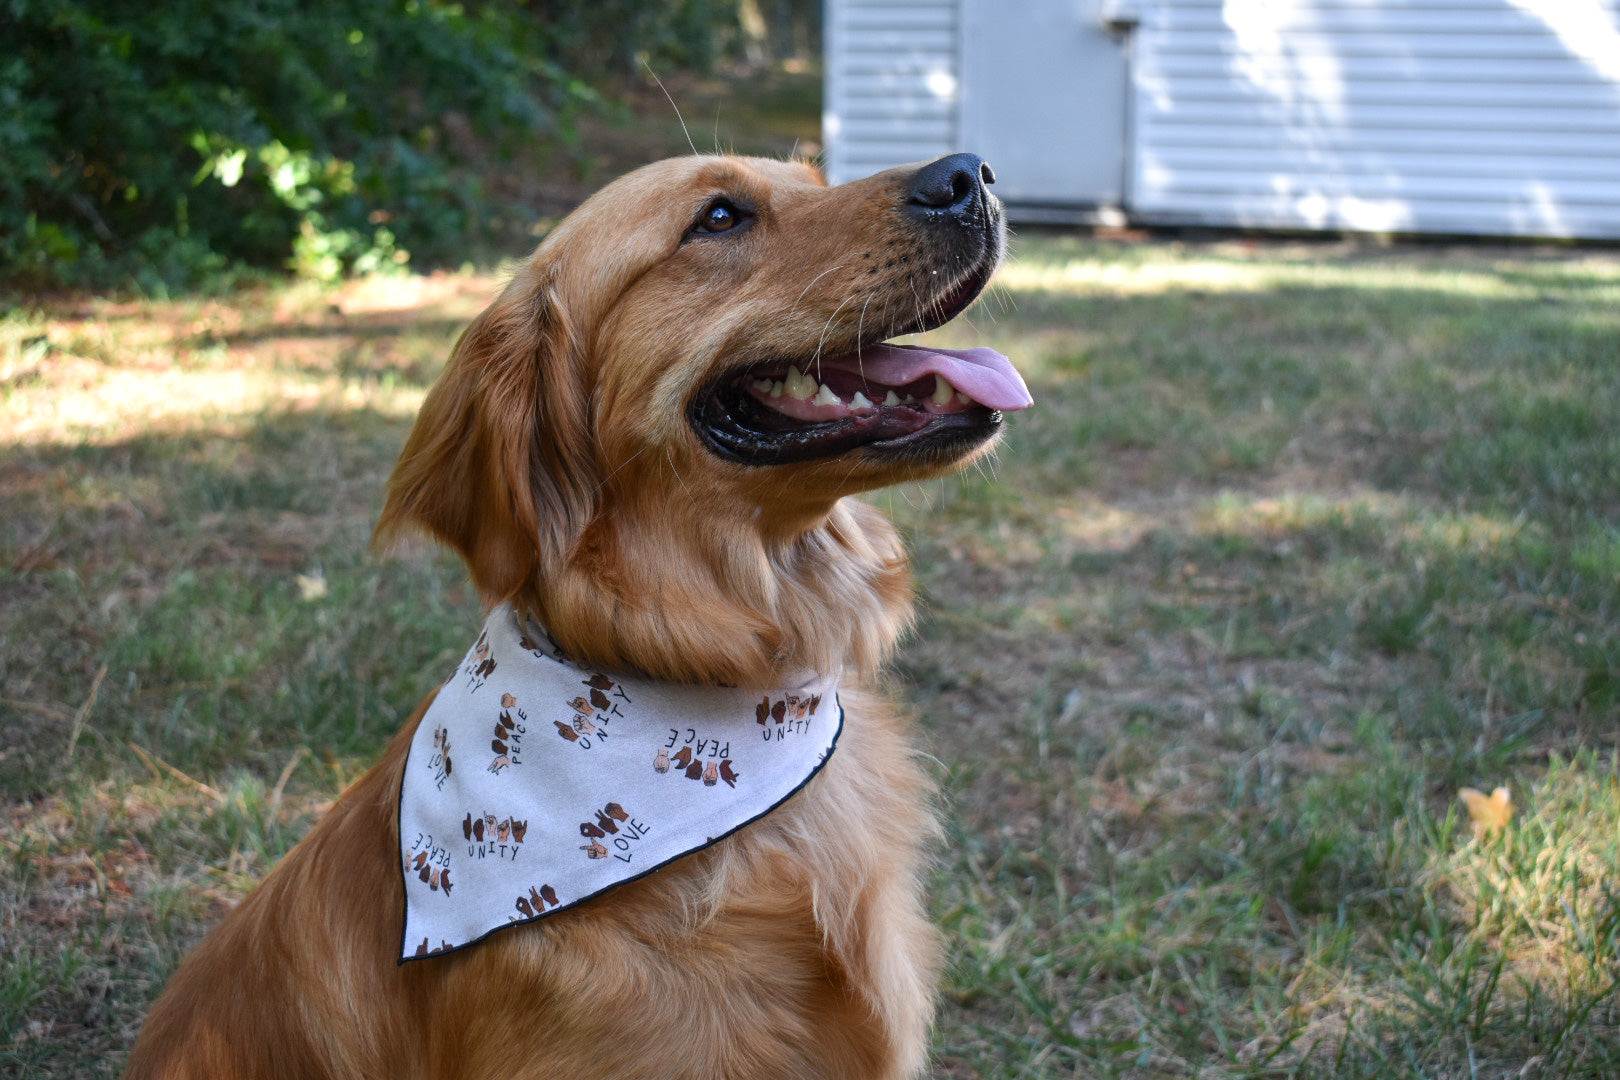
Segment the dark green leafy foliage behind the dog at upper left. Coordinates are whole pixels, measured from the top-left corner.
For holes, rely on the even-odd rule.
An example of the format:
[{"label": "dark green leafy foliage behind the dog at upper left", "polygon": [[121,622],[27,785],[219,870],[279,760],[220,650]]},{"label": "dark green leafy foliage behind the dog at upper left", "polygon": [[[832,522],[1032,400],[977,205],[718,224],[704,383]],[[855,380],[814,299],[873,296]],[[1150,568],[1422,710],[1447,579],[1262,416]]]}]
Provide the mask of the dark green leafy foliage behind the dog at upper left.
[{"label": "dark green leafy foliage behind the dog at upper left", "polygon": [[599,63],[714,58],[734,8],[0,0],[0,275],[175,285],[465,251],[501,214],[491,157],[565,139]]}]

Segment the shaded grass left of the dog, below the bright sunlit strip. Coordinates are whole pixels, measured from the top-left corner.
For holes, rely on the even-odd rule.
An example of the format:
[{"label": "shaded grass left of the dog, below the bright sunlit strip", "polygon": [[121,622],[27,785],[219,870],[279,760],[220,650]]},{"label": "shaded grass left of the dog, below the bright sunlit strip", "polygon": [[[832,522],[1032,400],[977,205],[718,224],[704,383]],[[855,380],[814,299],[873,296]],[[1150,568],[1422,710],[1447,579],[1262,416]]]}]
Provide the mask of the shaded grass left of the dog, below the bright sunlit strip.
[{"label": "shaded grass left of the dog, below the bright sunlit strip", "polygon": [[0,450],[0,1072],[115,1075],[183,950],[465,651],[458,563],[366,549],[407,429]]}]

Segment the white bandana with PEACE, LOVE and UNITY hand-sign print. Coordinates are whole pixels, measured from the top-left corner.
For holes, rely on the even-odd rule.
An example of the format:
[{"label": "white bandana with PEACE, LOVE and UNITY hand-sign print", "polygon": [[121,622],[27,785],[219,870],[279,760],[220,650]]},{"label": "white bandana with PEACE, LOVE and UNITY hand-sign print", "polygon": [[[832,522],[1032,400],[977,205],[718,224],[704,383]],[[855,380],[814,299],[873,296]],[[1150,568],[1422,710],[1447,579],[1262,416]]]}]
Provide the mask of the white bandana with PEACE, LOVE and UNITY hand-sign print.
[{"label": "white bandana with PEACE, LOVE and UNITY hand-sign print", "polygon": [[497,607],[405,761],[400,960],[708,847],[804,787],[842,725],[836,675],[742,690],[591,670]]}]

